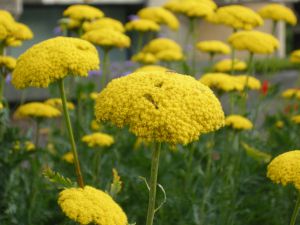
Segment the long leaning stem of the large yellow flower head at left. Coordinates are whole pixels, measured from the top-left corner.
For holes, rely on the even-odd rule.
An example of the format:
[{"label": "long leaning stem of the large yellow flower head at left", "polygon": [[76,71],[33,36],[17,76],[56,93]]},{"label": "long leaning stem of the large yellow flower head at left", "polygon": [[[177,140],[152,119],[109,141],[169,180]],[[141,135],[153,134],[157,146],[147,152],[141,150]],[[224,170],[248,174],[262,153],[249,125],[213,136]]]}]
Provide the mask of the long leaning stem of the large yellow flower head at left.
[{"label": "long leaning stem of the large yellow flower head at left", "polygon": [[77,154],[77,150],[76,150],[71,120],[70,120],[69,112],[67,109],[67,99],[66,99],[66,95],[65,95],[63,79],[60,79],[58,81],[58,85],[59,85],[59,90],[60,90],[60,95],[61,95],[61,100],[62,100],[62,105],[63,105],[64,118],[65,118],[65,122],[67,125],[67,130],[68,130],[68,134],[69,134],[72,153],[74,156],[74,166],[75,166],[75,171],[76,171],[76,176],[77,176],[77,183],[81,188],[83,188],[84,182],[83,182],[83,178],[82,178],[82,174],[81,174],[81,170],[80,170],[80,163],[79,163],[78,154]]}]

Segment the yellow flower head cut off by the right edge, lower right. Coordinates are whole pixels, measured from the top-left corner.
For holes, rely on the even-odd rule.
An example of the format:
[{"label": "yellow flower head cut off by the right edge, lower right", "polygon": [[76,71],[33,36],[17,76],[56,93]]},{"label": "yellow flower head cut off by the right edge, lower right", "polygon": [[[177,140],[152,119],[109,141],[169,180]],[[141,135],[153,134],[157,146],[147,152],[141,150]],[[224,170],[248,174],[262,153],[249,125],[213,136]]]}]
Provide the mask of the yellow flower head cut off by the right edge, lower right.
[{"label": "yellow flower head cut off by the right edge, lower right", "polygon": [[267,169],[267,177],[277,184],[293,184],[300,190],[300,150],[275,157]]}]

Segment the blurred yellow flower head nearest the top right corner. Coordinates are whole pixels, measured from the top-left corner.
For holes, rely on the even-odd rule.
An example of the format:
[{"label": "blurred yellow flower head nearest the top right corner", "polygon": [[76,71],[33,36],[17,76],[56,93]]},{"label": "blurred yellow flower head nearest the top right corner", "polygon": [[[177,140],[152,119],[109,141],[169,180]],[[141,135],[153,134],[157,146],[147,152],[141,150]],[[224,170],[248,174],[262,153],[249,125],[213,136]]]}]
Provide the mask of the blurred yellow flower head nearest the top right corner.
[{"label": "blurred yellow flower head nearest the top right corner", "polygon": [[288,7],[281,4],[268,4],[262,7],[258,14],[264,19],[271,19],[274,21],[284,21],[291,25],[297,24],[297,17],[295,13]]}]

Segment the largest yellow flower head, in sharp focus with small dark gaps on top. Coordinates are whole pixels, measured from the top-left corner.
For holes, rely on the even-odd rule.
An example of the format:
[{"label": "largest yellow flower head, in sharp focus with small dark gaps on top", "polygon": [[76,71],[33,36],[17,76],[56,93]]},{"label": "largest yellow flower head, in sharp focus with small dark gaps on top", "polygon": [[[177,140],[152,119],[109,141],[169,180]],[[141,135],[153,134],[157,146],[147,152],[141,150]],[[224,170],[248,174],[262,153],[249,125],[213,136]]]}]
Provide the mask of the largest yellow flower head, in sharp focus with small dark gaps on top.
[{"label": "largest yellow flower head, in sharp focus with small dark gaps on top", "polygon": [[171,144],[188,144],[224,125],[213,92],[174,72],[137,72],[113,80],[98,95],[95,114],[99,121],[129,126],[147,141]]}]

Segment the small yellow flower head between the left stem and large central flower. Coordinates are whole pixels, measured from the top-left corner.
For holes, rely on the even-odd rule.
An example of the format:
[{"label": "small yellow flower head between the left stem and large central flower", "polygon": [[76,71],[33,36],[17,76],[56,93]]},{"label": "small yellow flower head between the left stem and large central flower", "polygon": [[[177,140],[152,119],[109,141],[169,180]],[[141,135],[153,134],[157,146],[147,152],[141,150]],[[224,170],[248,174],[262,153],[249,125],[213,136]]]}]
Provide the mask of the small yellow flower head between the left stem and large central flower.
[{"label": "small yellow flower head between the left stem and large central flower", "polygon": [[86,143],[90,148],[109,147],[115,142],[111,135],[100,132],[85,135],[81,138],[81,141]]}]

